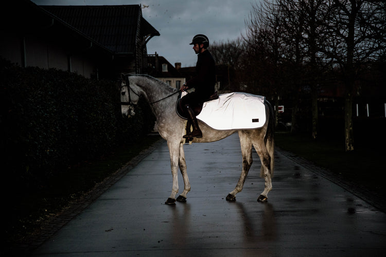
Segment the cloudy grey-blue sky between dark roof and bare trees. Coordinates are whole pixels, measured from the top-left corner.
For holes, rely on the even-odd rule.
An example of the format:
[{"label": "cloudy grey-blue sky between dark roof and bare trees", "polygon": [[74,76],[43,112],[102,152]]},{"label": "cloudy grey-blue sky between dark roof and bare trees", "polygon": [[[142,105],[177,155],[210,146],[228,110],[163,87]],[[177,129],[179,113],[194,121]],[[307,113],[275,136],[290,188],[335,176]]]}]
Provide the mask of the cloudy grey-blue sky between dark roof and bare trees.
[{"label": "cloudy grey-blue sky between dark roof and bare trees", "polygon": [[[226,42],[245,31],[245,19],[259,0],[32,0],[37,5],[139,5],[142,14],[160,36],[147,44],[148,54],[157,52],[172,65],[196,66],[191,39],[205,34],[209,42]],[[147,7],[148,6],[148,7]],[[210,46],[209,46],[210,50]]]}]

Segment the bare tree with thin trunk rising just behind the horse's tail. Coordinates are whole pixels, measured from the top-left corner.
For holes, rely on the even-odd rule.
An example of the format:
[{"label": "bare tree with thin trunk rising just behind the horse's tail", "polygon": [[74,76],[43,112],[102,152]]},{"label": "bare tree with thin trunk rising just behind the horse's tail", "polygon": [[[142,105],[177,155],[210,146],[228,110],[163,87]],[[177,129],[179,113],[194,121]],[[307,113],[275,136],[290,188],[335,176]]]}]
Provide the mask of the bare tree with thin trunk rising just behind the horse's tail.
[{"label": "bare tree with thin trunk rising just behind the horse's tail", "polygon": [[[245,21],[247,27],[243,39],[247,47],[247,60],[252,78],[252,88],[269,88],[266,93],[273,98],[276,112],[278,101],[282,97],[284,87],[282,63],[286,49],[283,42],[283,20],[280,19],[280,12],[277,5],[269,0],[262,1],[260,5],[252,5],[252,11]],[[259,83],[256,83],[259,82]],[[263,89],[263,90],[261,90]],[[266,94],[267,95],[267,94]],[[276,115],[277,125],[277,115]]]}]

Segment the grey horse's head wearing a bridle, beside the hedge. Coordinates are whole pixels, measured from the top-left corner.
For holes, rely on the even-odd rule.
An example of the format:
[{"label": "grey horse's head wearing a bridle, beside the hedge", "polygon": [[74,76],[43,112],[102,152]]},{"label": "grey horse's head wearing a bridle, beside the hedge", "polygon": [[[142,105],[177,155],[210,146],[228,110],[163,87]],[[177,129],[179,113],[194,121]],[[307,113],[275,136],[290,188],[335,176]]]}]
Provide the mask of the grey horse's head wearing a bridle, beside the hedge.
[{"label": "grey horse's head wearing a bridle, beside the hedge", "polygon": [[[132,87],[136,89],[133,89]],[[129,77],[122,74],[120,83],[120,106],[122,115],[129,118],[134,116],[134,105],[137,104],[138,101],[139,88],[135,84],[130,85]]]}]

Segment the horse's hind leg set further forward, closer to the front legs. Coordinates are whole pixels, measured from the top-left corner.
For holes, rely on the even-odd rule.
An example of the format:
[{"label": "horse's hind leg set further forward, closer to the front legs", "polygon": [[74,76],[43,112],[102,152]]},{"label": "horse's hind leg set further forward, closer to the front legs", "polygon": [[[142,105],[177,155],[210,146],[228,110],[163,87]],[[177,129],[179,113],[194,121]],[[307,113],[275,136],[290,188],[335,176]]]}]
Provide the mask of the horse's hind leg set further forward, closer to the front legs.
[{"label": "horse's hind leg set further forward, closer to the front legs", "polygon": [[236,194],[242,191],[245,179],[247,178],[249,169],[252,166],[252,142],[247,133],[239,131],[241,153],[242,153],[242,171],[237,182],[236,188],[226,196],[227,201],[236,200]]}]

